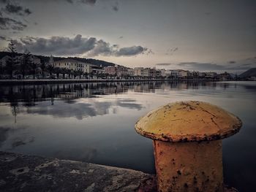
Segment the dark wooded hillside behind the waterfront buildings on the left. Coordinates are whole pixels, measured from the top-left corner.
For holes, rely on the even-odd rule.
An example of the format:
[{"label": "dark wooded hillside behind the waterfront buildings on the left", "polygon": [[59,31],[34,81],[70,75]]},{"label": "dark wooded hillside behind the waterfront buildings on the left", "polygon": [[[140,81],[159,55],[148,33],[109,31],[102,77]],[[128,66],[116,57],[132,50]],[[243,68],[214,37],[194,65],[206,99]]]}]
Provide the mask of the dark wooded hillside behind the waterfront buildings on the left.
[{"label": "dark wooded hillside behind the waterfront buildings on the left", "polygon": [[[5,55],[10,55],[9,52],[0,52],[0,59],[3,58]],[[17,53],[17,55],[21,55],[21,53]],[[45,63],[48,63],[49,59],[50,59],[50,56],[43,56],[43,55],[35,55],[36,57],[40,58],[41,61],[45,61]],[[94,58],[77,58],[77,57],[68,57],[68,58],[72,58],[72,59],[75,59],[75,60],[78,60],[78,61],[83,61],[85,63],[89,63],[89,64],[94,64],[94,65],[97,65],[97,66],[115,66],[115,64],[113,63],[110,63],[108,61],[102,61],[102,60],[97,60],[97,59],[94,59]],[[60,61],[60,60],[63,60],[65,59],[65,57],[53,57],[53,60],[54,61]]]}]

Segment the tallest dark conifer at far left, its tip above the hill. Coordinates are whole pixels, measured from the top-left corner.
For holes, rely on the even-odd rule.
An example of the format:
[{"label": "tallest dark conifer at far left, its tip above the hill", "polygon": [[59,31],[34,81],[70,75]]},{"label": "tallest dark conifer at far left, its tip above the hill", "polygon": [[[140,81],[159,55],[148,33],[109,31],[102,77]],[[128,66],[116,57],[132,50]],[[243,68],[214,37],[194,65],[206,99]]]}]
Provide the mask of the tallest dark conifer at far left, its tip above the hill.
[{"label": "tallest dark conifer at far left, its tip above the hill", "polygon": [[10,58],[7,59],[5,70],[7,71],[7,74],[9,74],[9,78],[12,79],[12,74],[17,68],[17,50],[15,48],[15,43],[13,40],[10,40],[10,43],[7,47],[7,51],[10,52]]}]

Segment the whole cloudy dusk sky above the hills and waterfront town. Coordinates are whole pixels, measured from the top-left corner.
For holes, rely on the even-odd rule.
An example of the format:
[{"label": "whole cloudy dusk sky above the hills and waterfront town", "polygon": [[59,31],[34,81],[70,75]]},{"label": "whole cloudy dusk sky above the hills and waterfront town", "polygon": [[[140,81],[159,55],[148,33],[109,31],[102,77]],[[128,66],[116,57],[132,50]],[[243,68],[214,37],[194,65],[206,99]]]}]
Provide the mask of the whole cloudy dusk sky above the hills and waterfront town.
[{"label": "whole cloudy dusk sky above the hills and waterfront town", "polygon": [[0,49],[124,66],[243,72],[256,66],[256,1],[0,0]]}]

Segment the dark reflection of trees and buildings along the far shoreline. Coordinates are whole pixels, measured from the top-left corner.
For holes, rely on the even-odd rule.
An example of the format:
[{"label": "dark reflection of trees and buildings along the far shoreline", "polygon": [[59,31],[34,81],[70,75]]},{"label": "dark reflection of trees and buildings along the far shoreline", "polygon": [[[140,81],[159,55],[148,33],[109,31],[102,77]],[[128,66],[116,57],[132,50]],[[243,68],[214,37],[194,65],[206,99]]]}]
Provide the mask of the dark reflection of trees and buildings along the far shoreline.
[{"label": "dark reflection of trees and buildings along the far shoreline", "polygon": [[[0,102],[10,102],[12,106],[17,106],[18,102],[21,101],[23,106],[31,107],[34,106],[37,101],[50,99],[52,104],[54,104],[54,100],[64,99],[67,100],[67,103],[72,104],[73,99],[126,93],[129,90],[141,93],[155,93],[156,89],[198,89],[210,84],[211,82],[92,82],[62,85],[1,86]],[[216,83],[211,84],[211,87],[216,86]],[[228,84],[225,84],[225,88],[228,88],[228,86]]]}]

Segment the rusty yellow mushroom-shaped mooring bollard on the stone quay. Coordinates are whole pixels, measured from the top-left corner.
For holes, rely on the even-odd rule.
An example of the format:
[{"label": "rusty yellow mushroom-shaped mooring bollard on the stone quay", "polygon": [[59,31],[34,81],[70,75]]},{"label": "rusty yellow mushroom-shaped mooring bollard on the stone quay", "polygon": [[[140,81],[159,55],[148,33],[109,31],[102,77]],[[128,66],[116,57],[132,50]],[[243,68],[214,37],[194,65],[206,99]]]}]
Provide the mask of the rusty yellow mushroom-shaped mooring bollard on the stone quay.
[{"label": "rusty yellow mushroom-shaped mooring bollard on the stone quay", "polygon": [[154,139],[158,191],[222,192],[222,140],[241,120],[201,101],[179,101],[140,118],[135,130]]}]

